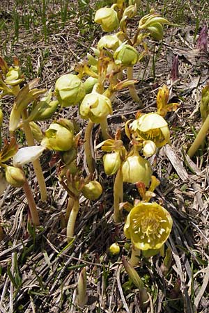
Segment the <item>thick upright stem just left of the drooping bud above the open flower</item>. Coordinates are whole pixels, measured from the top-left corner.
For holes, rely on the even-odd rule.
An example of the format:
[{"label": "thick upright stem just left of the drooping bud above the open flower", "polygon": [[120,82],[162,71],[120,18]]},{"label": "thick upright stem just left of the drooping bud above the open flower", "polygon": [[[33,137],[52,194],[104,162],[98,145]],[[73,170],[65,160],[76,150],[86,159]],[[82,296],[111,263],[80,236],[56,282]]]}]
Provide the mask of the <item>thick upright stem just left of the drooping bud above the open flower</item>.
[{"label": "thick upright stem just left of the drooping bud above the open flower", "polygon": [[119,168],[115,182],[114,182],[114,222],[121,222],[121,214],[119,204],[123,202],[123,175],[122,170]]}]

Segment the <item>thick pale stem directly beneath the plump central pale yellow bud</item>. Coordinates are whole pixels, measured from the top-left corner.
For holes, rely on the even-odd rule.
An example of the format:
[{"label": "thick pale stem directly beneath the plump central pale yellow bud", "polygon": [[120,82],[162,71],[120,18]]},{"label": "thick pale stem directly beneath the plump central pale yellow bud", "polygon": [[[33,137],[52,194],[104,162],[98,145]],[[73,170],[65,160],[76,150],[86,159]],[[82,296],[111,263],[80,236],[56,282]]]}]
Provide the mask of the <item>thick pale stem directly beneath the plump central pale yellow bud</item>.
[{"label": "thick pale stem directly beneath the plump central pale yellow bud", "polygon": [[86,155],[86,163],[88,166],[88,170],[90,173],[94,172],[95,169],[95,160],[93,158],[93,153],[91,149],[91,133],[93,129],[94,123],[91,120],[88,121],[88,125],[86,127],[85,135],[84,135],[84,152]]}]

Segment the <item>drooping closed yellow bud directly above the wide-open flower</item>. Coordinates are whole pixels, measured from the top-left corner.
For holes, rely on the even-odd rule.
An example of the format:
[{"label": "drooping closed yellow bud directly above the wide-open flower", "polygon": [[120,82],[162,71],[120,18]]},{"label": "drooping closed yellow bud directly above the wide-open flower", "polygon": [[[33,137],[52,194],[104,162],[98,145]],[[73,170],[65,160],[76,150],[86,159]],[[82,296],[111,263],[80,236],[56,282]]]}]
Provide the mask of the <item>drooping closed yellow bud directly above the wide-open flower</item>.
[{"label": "drooping closed yellow bud directly above the wide-open flower", "polygon": [[144,182],[145,186],[150,184],[152,170],[149,161],[142,158],[138,152],[134,152],[124,161],[122,166],[123,182],[135,184]]}]

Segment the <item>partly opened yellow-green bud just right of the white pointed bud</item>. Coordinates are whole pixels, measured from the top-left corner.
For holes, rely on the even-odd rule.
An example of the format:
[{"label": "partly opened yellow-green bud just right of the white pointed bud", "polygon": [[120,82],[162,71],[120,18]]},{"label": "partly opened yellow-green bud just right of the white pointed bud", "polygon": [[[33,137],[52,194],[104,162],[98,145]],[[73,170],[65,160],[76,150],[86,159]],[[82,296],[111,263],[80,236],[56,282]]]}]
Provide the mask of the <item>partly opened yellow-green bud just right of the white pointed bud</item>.
[{"label": "partly opened yellow-green bud just right of the white pointed bud", "polygon": [[52,123],[45,132],[41,145],[56,151],[68,151],[73,145],[72,131],[59,123]]}]

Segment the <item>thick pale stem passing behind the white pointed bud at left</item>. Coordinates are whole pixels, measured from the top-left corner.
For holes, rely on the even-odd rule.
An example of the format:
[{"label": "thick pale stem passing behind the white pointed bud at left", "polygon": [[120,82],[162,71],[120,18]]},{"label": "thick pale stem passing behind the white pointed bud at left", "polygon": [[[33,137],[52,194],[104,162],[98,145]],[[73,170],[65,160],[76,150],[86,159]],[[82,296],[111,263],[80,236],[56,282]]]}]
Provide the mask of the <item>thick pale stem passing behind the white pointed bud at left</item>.
[{"label": "thick pale stem passing behind the white pointed bud at left", "polygon": [[[27,118],[26,111],[22,113],[22,118],[23,118],[23,129],[24,129],[24,134],[26,136],[26,141],[29,146],[33,146],[35,145],[35,143],[34,143],[33,134],[31,131],[31,127],[29,125],[29,122],[24,122],[24,120]],[[47,200],[47,187],[45,184],[45,177],[42,173],[42,168],[40,166],[40,161],[39,159],[36,159],[32,163],[33,163],[33,168],[36,172],[36,178],[37,178],[38,185],[40,188],[40,198],[42,201],[46,201]]]}]

